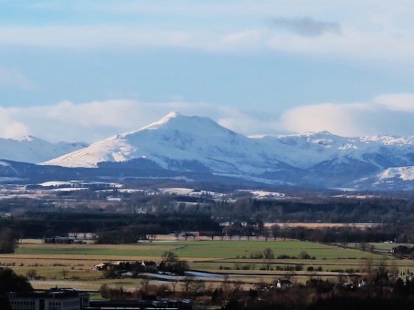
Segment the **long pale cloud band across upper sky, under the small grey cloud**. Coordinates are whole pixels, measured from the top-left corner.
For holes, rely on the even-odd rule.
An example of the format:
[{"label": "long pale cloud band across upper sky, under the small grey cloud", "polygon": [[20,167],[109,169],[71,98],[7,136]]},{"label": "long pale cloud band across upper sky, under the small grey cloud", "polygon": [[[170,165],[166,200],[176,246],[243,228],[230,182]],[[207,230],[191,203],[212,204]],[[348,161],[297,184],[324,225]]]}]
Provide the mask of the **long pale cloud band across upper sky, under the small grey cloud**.
[{"label": "long pale cloud band across upper sky, under the small grey cloud", "polygon": [[[215,52],[295,52],[351,59],[413,63],[413,30],[362,27],[353,24],[323,23],[311,19],[313,30],[301,22],[289,22],[292,32],[280,32],[265,23],[245,28],[182,29],[152,25],[54,25],[0,27],[0,45],[25,45],[41,48],[128,49],[186,48]],[[298,25],[297,25],[298,24]],[[295,29],[296,29],[295,28]],[[340,29],[340,30],[339,30]],[[296,33],[295,33],[296,32]],[[392,46],[393,48],[390,48]],[[0,76],[4,76],[1,74]],[[14,80],[18,80],[17,76]]]}]

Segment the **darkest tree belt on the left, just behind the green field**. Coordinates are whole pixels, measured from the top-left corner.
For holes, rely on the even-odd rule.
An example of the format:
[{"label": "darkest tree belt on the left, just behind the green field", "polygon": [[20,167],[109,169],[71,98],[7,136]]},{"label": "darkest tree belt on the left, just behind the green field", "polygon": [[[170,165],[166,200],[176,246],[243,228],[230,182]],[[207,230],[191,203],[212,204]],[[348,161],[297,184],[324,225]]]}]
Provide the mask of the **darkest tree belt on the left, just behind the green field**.
[{"label": "darkest tree belt on the left, just behind the green field", "polygon": [[[20,238],[65,236],[68,233],[117,234],[116,243],[136,242],[149,234],[171,234],[175,231],[219,231],[209,216],[188,214],[118,214],[113,212],[27,212],[12,218],[1,218],[0,227],[18,231]],[[106,240],[109,242],[109,240]],[[112,243],[112,242],[110,242]]]}]

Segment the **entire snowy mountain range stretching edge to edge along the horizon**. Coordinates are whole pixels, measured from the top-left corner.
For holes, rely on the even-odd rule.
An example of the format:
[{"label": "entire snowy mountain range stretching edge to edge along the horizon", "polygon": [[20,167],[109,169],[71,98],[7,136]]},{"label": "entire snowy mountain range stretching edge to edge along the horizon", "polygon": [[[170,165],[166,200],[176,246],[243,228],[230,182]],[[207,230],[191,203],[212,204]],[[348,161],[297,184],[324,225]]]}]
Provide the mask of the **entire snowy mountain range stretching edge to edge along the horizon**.
[{"label": "entire snowy mountain range stretching edge to edge along the horizon", "polygon": [[[90,146],[72,146],[66,154],[57,155],[45,147],[43,158],[47,159],[40,161],[8,156],[6,159],[40,165],[34,165],[35,169],[32,165],[30,170],[21,168],[23,163],[3,161],[0,175],[20,174],[23,169],[26,173],[30,170],[31,176],[39,170],[44,176],[54,171],[114,178],[221,178],[239,183],[353,189],[411,189],[414,184],[414,136],[349,138],[329,132],[244,136],[210,118],[172,112],[134,132]],[[41,153],[39,149],[32,151]],[[6,169],[1,167],[6,166],[9,169],[2,174]]]}]

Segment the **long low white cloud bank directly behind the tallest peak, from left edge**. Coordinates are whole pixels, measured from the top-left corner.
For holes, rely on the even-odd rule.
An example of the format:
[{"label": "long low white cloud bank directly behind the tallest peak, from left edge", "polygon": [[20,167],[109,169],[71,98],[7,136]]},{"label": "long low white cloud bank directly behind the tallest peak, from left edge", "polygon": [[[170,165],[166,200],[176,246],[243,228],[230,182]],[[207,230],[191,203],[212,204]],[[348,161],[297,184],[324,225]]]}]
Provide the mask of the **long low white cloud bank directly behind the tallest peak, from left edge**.
[{"label": "long low white cloud bank directly behind the tallest peak, from left edge", "polygon": [[[271,122],[235,107],[209,103],[141,103],[113,100],[74,104],[69,101],[40,107],[0,108],[0,136],[32,134],[49,141],[95,142],[113,134],[138,130],[169,112],[207,116],[242,134],[272,132]],[[269,119],[269,113],[267,118]]]}]

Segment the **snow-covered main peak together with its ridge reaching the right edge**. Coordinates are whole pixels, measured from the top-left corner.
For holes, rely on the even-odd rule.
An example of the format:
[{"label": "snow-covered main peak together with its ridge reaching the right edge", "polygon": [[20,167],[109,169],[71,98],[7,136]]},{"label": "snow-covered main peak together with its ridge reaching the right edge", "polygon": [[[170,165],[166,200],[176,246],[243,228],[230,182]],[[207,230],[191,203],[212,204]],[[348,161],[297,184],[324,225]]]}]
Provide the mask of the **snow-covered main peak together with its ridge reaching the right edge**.
[{"label": "snow-covered main peak together with its ridge reaching the right edge", "polygon": [[311,184],[336,186],[389,167],[414,165],[414,137],[346,138],[329,132],[247,137],[210,118],[172,112],[140,130],[112,136],[43,165],[141,165],[137,158],[175,171],[243,174],[294,183],[302,178]]}]

